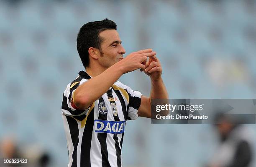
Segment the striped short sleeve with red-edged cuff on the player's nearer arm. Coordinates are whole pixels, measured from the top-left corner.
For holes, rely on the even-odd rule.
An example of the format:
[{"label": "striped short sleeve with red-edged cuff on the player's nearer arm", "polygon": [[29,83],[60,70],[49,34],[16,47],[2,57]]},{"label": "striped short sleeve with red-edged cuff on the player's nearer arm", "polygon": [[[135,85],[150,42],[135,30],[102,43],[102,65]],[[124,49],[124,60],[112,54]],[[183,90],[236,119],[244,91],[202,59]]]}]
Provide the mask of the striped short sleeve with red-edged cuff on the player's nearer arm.
[{"label": "striped short sleeve with red-edged cuff on the player's nearer arm", "polygon": [[86,81],[86,79],[79,77],[71,82],[69,85],[67,85],[67,88],[63,93],[63,100],[61,105],[61,111],[64,115],[74,117],[80,121],[82,121],[86,117],[90,108],[86,110],[77,110],[76,107],[74,107],[74,104],[72,104],[72,98],[75,90],[77,89],[77,87],[79,87],[79,85]]}]

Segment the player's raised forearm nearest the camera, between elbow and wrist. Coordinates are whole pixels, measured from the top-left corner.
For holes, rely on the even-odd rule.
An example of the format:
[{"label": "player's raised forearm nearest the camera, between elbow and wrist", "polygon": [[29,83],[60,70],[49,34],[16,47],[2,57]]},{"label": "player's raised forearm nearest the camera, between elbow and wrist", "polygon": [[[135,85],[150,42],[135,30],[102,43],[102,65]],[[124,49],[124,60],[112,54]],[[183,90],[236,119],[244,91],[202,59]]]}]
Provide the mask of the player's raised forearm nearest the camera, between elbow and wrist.
[{"label": "player's raised forearm nearest the camera, between elbow and wrist", "polygon": [[74,92],[74,102],[80,109],[89,107],[123,75],[119,63],[80,85]]}]

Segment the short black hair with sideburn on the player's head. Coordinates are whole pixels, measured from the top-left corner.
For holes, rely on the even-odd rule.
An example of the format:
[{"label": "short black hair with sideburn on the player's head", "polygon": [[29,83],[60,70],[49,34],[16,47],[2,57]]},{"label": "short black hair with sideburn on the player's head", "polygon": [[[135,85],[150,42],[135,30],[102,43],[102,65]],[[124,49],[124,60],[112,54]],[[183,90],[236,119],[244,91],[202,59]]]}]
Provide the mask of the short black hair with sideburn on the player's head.
[{"label": "short black hair with sideburn on the player's head", "polygon": [[101,21],[87,22],[84,24],[77,35],[77,51],[84,68],[89,66],[90,47],[95,47],[101,50],[101,43],[103,39],[99,36],[100,32],[104,30],[117,30],[115,22],[107,18]]}]

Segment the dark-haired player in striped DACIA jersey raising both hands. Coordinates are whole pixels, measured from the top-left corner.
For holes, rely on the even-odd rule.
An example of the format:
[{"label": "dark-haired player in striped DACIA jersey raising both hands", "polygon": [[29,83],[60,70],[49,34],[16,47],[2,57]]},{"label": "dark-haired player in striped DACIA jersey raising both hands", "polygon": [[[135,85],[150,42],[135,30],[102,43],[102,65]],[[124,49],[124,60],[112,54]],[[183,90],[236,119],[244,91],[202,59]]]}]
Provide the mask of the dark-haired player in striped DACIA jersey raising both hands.
[{"label": "dark-haired player in striped DACIA jersey raising both hands", "polygon": [[[123,58],[116,30],[115,22],[105,19],[88,22],[77,35],[86,72],[80,71],[63,95],[68,167],[121,167],[126,120],[151,118],[151,99],[168,98],[156,52],[139,50]],[[117,81],[137,69],[151,78],[150,98]]]}]

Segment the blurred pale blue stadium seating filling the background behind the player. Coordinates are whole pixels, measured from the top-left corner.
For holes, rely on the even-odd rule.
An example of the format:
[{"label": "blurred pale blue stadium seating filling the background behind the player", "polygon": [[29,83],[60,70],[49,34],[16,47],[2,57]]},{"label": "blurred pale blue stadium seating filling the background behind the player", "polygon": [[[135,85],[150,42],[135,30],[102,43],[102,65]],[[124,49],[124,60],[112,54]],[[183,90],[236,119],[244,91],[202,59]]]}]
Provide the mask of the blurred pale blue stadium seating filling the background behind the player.
[{"label": "blurred pale blue stadium seating filling the background behind the player", "polygon": [[[0,138],[14,133],[23,142],[40,142],[53,153],[54,167],[67,166],[60,108],[65,87],[83,70],[76,35],[84,23],[106,17],[116,21],[126,53],[156,50],[171,98],[255,97],[255,11],[255,0],[0,1]],[[218,75],[218,65],[210,63],[232,64],[237,55],[246,79],[216,84],[209,67]],[[121,81],[149,94],[150,81],[139,72]],[[215,144],[208,125],[153,126],[143,118],[127,125],[125,167],[198,167]],[[173,144],[166,147],[166,139]]]}]

